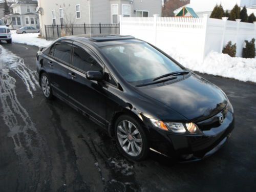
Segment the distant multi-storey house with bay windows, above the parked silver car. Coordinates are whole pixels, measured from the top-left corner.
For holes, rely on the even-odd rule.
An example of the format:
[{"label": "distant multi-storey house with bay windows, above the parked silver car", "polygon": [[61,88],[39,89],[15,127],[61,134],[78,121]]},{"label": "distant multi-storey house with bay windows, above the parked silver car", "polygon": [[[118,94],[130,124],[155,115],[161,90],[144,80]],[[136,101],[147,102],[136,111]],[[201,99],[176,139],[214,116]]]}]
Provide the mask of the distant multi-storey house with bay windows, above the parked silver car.
[{"label": "distant multi-storey house with bay windows, above the parked silver car", "polygon": [[36,12],[36,0],[18,0],[11,5],[12,14],[5,16],[5,22],[11,29],[29,26],[39,28],[39,16]]}]

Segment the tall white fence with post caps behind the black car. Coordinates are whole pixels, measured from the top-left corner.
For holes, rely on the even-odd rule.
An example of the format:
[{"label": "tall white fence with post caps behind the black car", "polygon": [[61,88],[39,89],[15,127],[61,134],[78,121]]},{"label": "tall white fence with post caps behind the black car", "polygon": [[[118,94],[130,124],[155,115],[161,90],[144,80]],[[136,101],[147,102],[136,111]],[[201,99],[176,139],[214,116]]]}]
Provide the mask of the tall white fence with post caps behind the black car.
[{"label": "tall white fence with post caps behind the black car", "polygon": [[185,17],[119,17],[120,34],[150,42],[166,53],[177,52],[202,61],[211,51],[222,52],[228,41],[236,42],[242,56],[244,40],[256,38],[256,23]]}]

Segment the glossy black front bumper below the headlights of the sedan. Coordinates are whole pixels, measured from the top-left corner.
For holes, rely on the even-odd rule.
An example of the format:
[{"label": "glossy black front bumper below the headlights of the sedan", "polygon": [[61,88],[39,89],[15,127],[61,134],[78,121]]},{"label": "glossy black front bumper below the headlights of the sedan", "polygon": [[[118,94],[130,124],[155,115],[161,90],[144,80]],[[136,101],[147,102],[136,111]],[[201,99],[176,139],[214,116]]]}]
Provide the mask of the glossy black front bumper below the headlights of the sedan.
[{"label": "glossy black front bumper below the headlights of the sedan", "polygon": [[204,159],[221,148],[234,129],[232,112],[226,114],[224,122],[202,135],[183,135],[150,129],[151,148],[179,161],[197,161]]}]

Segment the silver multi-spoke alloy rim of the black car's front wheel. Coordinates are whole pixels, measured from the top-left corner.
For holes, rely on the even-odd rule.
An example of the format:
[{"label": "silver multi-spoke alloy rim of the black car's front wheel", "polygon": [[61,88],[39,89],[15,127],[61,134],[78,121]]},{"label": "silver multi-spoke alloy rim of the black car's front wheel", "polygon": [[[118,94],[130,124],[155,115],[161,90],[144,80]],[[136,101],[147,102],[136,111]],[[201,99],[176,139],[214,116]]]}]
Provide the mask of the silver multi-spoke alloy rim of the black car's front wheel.
[{"label": "silver multi-spoke alloy rim of the black car's front wheel", "polygon": [[130,121],[123,120],[117,125],[117,138],[123,151],[133,157],[140,155],[142,138],[137,127]]}]

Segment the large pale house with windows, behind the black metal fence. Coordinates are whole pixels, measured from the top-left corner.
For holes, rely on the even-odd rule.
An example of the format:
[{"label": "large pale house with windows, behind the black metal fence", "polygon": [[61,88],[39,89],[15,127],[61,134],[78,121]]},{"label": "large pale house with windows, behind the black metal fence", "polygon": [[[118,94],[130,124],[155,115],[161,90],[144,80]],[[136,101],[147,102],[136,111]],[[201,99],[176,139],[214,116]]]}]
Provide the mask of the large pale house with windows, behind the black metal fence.
[{"label": "large pale house with windows, behind the black metal fence", "polygon": [[38,0],[40,28],[45,25],[117,24],[124,17],[152,17],[162,0]]}]

